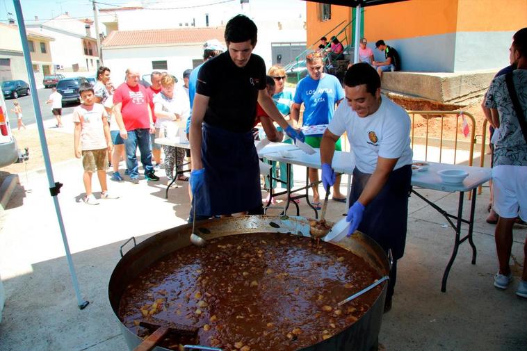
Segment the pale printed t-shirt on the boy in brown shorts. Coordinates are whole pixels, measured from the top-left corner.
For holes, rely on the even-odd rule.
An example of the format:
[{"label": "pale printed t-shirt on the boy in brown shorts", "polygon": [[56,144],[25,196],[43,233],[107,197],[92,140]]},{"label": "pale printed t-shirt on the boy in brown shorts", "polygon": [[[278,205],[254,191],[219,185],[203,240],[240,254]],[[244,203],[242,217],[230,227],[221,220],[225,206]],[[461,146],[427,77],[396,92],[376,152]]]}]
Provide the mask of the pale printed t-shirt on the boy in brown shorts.
[{"label": "pale printed t-shirt on the boy in brown shorts", "polygon": [[108,118],[108,113],[102,104],[92,106],[81,104],[74,109],[73,122],[81,124],[81,149],[83,151],[105,149],[108,146],[104,136],[102,117]]}]

